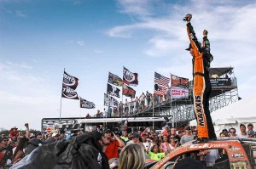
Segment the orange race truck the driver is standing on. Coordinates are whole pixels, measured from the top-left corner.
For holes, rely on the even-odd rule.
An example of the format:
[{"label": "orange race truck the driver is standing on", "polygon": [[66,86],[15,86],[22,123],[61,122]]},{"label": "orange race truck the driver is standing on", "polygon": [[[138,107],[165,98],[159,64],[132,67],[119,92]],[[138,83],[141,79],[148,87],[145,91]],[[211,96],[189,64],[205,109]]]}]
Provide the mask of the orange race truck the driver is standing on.
[{"label": "orange race truck the driver is standing on", "polygon": [[[256,169],[256,139],[218,138],[216,141],[188,142],[174,149],[158,162],[147,164],[151,169],[172,169],[179,161],[192,158],[200,161],[200,152],[218,149],[219,158],[206,168],[212,169]],[[207,165],[207,164],[205,164]]]}]

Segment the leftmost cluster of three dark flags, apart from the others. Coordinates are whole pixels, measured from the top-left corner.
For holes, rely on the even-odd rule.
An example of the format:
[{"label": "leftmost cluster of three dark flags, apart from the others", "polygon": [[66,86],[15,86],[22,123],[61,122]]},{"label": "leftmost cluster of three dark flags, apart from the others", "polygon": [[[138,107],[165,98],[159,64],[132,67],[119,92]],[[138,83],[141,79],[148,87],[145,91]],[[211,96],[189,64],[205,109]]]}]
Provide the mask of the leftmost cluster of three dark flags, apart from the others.
[{"label": "leftmost cluster of three dark flags, apart from the others", "polygon": [[75,91],[78,86],[79,78],[68,75],[67,72],[64,70],[61,97],[66,99],[79,99],[80,108],[94,109],[95,104],[93,102],[79,97],[78,93]]}]

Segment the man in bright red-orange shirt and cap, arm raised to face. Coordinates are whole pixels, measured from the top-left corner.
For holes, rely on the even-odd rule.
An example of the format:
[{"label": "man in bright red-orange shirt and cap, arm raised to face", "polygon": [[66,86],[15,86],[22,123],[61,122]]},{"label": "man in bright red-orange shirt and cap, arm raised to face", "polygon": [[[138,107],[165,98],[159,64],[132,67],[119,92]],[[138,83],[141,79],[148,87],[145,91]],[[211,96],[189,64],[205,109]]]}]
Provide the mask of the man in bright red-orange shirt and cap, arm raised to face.
[{"label": "man in bright red-orange shirt and cap, arm raised to face", "polygon": [[[108,139],[109,143],[106,150],[105,154],[108,156],[108,160],[112,158],[118,158],[119,157],[119,147],[123,148],[125,147],[125,143],[122,139],[117,137],[113,132],[111,132],[109,129],[105,130],[104,132],[105,137]],[[113,134],[113,138],[112,138]]]}]

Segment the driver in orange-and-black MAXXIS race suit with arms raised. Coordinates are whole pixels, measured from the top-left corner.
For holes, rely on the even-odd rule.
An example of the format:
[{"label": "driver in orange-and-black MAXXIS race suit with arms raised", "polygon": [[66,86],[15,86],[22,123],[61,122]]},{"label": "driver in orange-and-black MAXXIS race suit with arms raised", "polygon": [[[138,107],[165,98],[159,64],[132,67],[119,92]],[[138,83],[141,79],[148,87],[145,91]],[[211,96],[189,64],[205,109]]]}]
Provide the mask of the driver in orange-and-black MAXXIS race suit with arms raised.
[{"label": "driver in orange-and-black MAXXIS race suit with arms raised", "polygon": [[189,35],[189,53],[192,55],[193,63],[193,97],[194,97],[194,110],[198,128],[198,141],[203,142],[208,139],[215,140],[216,134],[212,124],[212,117],[209,110],[209,97],[212,91],[209,68],[212,61],[212,56],[201,47],[195,37],[195,31],[190,23],[192,14],[187,14],[184,21],[187,22],[187,31]]}]

